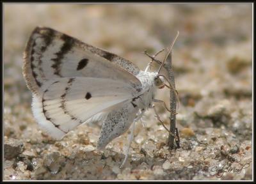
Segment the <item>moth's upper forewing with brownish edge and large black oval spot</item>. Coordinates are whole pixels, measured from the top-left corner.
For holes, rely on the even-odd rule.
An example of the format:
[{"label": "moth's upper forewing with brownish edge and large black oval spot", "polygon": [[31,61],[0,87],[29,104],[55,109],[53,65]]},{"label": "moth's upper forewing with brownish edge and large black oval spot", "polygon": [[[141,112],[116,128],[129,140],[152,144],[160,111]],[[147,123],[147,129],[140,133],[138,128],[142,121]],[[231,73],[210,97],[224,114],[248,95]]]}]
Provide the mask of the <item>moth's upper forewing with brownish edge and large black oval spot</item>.
[{"label": "moth's upper forewing with brownish edge and large black oval spot", "polygon": [[140,91],[141,83],[135,77],[139,72],[120,56],[47,27],[35,28],[24,52],[23,75],[35,95],[42,94],[45,81],[61,77],[114,79]]}]

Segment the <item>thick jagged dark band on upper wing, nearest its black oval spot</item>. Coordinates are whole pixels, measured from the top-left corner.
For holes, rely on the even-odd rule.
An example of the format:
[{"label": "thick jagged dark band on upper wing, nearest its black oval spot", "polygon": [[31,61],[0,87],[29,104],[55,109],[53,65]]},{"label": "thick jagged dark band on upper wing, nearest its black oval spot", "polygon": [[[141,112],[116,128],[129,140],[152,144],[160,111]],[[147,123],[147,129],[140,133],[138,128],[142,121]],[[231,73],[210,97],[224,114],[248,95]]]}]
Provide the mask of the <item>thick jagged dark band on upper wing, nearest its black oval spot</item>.
[{"label": "thick jagged dark band on upper wing, nearest its black oval spot", "polygon": [[63,59],[63,57],[65,56],[65,54],[67,54],[68,51],[70,51],[74,45],[74,38],[71,38],[70,36],[68,36],[67,34],[62,34],[60,36],[61,40],[64,41],[61,49],[59,52],[56,53],[56,58],[52,59],[52,61],[54,62],[54,64],[52,65],[52,68],[54,69],[54,74],[58,75],[60,77],[61,73],[61,59]]}]

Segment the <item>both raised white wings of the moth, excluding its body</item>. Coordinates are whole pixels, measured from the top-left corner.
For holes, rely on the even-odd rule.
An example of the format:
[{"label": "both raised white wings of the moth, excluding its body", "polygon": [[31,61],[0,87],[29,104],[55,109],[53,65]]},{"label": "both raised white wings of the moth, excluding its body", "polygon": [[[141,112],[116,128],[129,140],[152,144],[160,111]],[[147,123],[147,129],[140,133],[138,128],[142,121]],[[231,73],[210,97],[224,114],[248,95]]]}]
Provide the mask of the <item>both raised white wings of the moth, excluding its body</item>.
[{"label": "both raised white wings of the moth, excluding its body", "polygon": [[34,29],[24,52],[33,114],[58,139],[95,114],[132,99],[141,91],[134,76],[139,71],[116,54],[47,27]]}]

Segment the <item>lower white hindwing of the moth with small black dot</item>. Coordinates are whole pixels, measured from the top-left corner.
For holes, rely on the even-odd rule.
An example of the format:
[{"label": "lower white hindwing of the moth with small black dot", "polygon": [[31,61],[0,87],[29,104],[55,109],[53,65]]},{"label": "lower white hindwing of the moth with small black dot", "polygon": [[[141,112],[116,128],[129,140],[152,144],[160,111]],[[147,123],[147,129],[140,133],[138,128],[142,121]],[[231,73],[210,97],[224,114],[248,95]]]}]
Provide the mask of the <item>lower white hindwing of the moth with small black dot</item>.
[{"label": "lower white hindwing of the moth with small black dot", "polygon": [[92,77],[49,80],[42,89],[42,96],[33,95],[33,114],[39,125],[56,139],[93,116],[131,101],[136,93],[124,82]]}]

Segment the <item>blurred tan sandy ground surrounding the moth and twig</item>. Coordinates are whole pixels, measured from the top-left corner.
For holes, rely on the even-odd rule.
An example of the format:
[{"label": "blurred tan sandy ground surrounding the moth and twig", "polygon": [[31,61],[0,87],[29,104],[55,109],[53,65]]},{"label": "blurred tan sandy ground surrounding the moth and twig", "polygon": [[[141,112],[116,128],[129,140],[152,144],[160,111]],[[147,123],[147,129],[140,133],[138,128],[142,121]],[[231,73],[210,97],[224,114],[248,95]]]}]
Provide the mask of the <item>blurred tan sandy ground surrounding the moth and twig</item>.
[{"label": "blurred tan sandy ground surrounding the moth and twig", "polygon": [[[38,127],[22,76],[22,52],[47,26],[129,59],[141,70],[170,45],[180,107],[180,146],[147,111],[124,168],[127,135],[98,151],[100,126],[61,141]],[[161,59],[161,57],[159,57]],[[157,65],[155,69],[157,68]],[[157,98],[169,104],[168,89]],[[167,127],[168,112],[157,111]],[[222,146],[222,147],[221,147]],[[252,180],[252,6],[250,4],[4,4],[4,180]]]}]

